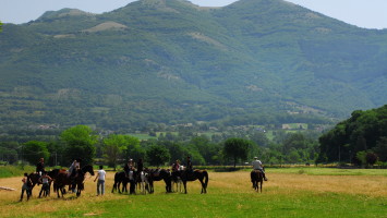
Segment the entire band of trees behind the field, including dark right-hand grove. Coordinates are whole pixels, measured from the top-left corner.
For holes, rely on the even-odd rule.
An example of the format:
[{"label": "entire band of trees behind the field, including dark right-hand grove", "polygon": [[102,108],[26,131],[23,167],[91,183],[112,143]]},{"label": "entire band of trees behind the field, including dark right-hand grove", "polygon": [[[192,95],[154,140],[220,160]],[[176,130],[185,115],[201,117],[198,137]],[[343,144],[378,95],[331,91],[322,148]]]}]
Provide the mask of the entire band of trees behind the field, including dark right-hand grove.
[{"label": "entire band of trees behind the field, including dark right-hand grove", "polygon": [[[0,142],[0,158],[10,164],[35,164],[44,157],[50,166],[68,166],[74,158],[84,164],[117,168],[142,158],[148,166],[164,166],[191,156],[194,165],[245,165],[257,156],[265,165],[387,161],[387,106],[353,111],[328,132],[274,131],[273,137],[257,128],[207,135],[181,126],[177,132],[156,133],[140,140],[128,134],[102,134],[86,125],[69,128],[46,141]],[[58,132],[58,131],[57,131]]]}]

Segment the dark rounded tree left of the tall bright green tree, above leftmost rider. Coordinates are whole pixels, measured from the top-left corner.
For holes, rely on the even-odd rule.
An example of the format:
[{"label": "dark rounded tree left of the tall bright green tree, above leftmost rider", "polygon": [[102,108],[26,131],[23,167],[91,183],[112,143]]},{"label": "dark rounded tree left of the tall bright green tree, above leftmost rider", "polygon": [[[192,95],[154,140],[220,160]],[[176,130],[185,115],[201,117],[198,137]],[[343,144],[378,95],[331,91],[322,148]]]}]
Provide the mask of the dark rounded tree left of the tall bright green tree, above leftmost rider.
[{"label": "dark rounded tree left of the tall bright green tree, above leftmost rider", "polygon": [[29,141],[23,145],[23,158],[32,165],[36,165],[40,158],[48,160],[49,157],[46,142]]}]

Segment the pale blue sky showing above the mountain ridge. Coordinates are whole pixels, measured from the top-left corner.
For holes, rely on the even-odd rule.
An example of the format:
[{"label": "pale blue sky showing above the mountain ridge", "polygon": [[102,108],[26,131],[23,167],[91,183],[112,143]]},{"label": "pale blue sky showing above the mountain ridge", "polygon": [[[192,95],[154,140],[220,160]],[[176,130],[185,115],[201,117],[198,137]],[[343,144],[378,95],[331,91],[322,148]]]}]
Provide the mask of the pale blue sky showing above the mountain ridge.
[{"label": "pale blue sky showing above the mountain ridge", "polygon": [[[22,24],[46,11],[63,8],[102,13],[134,0],[0,0],[0,21]],[[235,0],[191,0],[202,7],[223,7]],[[365,28],[387,28],[387,0],[287,0],[349,24]]]}]

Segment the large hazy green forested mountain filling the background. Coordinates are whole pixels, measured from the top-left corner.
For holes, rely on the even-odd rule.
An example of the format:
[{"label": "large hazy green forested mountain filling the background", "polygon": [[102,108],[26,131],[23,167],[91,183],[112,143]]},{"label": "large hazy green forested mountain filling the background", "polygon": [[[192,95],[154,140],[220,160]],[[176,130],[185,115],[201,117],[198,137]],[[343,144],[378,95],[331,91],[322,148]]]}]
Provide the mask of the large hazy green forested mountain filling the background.
[{"label": "large hazy green forested mountain filling the background", "polygon": [[0,33],[5,125],[342,119],[387,101],[387,29],[283,0],[138,0],[49,11]]}]

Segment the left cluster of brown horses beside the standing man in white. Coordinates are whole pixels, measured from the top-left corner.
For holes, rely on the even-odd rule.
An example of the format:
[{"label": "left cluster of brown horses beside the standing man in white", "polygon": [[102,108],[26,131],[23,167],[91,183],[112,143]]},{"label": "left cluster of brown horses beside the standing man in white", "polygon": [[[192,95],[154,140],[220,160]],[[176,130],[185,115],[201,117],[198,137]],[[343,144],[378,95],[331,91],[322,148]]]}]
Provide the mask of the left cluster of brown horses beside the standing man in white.
[{"label": "left cluster of brown horses beside the standing man in white", "polygon": [[[86,173],[90,173],[94,175],[93,166],[87,165],[82,169],[77,170],[74,177],[70,177],[69,172],[65,169],[53,169],[47,172],[47,174],[53,180],[53,192],[57,192],[58,197],[63,197],[63,194],[66,193],[65,186],[69,185],[70,190],[76,190],[76,196],[81,196],[81,192],[84,190],[84,181],[86,178]],[[29,179],[32,181],[31,191],[35,187],[36,184],[40,184],[40,174],[31,173]],[[51,182],[49,182],[49,186],[44,193],[44,195],[50,194]],[[40,191],[41,194],[41,191]],[[40,195],[39,194],[39,195]],[[61,194],[61,196],[60,196]]]}]

